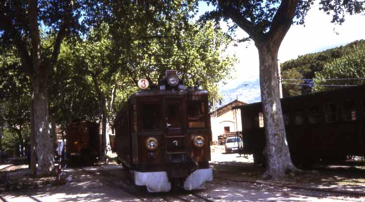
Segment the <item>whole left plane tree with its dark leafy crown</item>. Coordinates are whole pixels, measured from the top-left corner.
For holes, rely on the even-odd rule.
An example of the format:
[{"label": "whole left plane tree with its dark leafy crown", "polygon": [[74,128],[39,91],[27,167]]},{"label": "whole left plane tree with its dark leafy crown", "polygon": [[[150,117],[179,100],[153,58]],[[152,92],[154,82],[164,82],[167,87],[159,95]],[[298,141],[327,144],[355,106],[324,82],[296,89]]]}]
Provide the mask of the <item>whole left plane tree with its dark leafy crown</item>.
[{"label": "whole left plane tree with its dark leafy crown", "polygon": [[[78,35],[81,30],[79,2],[72,0],[2,0],[0,1],[1,46],[15,47],[21,65],[32,87],[32,125],[36,137],[37,174],[49,175],[54,168],[48,120],[48,71],[58,59],[61,42],[66,36]],[[40,26],[54,41],[42,46]],[[34,115],[34,116],[33,116]],[[34,153],[34,152],[32,152]],[[35,165],[35,164],[33,164]]]}]

